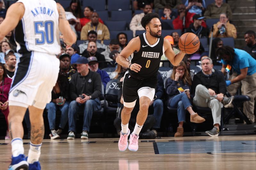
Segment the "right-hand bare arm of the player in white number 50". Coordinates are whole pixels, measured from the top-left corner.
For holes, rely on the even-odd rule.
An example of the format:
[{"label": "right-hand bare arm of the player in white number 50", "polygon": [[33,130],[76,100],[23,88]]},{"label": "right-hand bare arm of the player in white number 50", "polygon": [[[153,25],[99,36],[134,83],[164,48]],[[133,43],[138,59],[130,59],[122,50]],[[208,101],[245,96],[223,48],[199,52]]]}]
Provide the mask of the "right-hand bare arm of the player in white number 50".
[{"label": "right-hand bare arm of the player in white number 50", "polygon": [[59,29],[63,35],[64,42],[67,45],[72,45],[76,42],[76,34],[72,31],[66,18],[65,10],[59,3],[57,3],[57,9],[59,12]]}]

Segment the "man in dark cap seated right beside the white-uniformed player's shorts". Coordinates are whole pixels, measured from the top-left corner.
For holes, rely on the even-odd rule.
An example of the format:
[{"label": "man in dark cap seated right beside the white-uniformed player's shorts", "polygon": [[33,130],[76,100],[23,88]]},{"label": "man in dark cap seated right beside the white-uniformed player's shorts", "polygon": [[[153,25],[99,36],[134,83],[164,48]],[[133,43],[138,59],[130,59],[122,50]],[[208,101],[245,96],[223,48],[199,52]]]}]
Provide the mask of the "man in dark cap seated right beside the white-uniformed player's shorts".
[{"label": "man in dark cap seated right beside the white-uniformed player's shorts", "polygon": [[71,76],[76,73],[76,70],[70,65],[70,55],[67,53],[62,53],[59,57],[60,59],[60,74],[71,80]]}]

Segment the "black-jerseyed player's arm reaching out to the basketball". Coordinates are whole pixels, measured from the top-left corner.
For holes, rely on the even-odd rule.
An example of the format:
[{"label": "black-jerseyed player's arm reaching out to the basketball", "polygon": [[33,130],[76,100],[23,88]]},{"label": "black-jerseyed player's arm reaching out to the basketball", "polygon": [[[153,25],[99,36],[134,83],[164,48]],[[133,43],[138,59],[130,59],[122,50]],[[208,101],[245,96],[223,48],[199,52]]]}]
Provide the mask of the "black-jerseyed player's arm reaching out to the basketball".
[{"label": "black-jerseyed player's arm reaching out to the basketball", "polygon": [[172,46],[170,42],[166,39],[164,39],[164,50],[165,50],[164,52],[165,56],[174,66],[177,66],[185,55],[185,53],[182,53],[181,51],[175,55],[175,53],[172,50]]}]

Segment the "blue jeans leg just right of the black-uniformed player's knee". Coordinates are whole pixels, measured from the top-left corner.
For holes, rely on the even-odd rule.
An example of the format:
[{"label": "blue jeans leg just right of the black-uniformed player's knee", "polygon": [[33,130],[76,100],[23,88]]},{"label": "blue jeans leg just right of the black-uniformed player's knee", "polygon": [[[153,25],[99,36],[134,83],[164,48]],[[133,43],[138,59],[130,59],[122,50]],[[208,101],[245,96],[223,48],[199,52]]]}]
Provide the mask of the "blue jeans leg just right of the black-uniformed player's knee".
[{"label": "blue jeans leg just right of the black-uniformed player's knee", "polygon": [[152,128],[160,128],[161,120],[164,111],[164,104],[161,99],[156,99],[153,103],[154,114],[153,116],[156,118],[156,123],[152,126]]}]

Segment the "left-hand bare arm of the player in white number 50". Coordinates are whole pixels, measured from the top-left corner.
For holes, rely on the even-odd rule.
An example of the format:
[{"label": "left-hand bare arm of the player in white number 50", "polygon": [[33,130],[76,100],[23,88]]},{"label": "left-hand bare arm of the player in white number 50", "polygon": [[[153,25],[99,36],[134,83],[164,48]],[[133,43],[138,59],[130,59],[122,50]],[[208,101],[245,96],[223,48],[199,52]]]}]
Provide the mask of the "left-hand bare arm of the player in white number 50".
[{"label": "left-hand bare arm of the player in white number 50", "polygon": [[22,3],[12,4],[6,13],[4,21],[0,24],[0,41],[5,35],[12,31],[19,23],[25,12],[25,7]]}]

